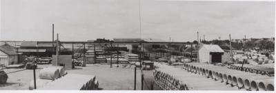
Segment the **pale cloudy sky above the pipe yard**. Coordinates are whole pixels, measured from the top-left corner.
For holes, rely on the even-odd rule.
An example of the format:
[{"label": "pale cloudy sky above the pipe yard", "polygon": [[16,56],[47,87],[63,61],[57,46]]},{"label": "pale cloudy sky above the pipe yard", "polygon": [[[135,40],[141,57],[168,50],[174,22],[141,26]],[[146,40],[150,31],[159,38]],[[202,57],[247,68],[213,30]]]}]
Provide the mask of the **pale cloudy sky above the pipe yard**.
[{"label": "pale cloudy sky above the pipe yard", "polygon": [[[274,2],[141,0],[141,38],[272,38]],[[138,0],[1,0],[1,40],[140,38]]]}]

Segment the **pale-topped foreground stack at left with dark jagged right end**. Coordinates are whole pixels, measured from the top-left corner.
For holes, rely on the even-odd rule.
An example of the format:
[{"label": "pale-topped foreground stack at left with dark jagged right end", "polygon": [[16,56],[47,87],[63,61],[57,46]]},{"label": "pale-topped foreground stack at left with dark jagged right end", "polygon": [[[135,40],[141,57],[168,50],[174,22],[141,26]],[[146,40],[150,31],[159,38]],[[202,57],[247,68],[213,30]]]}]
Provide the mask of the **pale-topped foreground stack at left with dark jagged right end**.
[{"label": "pale-topped foreground stack at left with dark jagged right end", "polygon": [[39,88],[39,90],[97,90],[99,82],[92,75],[68,74]]}]

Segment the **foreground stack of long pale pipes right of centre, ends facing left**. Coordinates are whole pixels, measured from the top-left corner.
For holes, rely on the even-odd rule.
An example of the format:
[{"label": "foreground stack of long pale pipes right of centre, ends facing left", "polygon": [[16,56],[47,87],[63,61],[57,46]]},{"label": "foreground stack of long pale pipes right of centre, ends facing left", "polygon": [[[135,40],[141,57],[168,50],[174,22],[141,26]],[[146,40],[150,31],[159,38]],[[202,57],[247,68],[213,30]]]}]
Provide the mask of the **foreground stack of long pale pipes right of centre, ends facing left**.
[{"label": "foreground stack of long pale pipes right of centre, ends facing left", "polygon": [[238,90],[219,81],[186,72],[180,66],[155,65],[159,67],[153,72],[155,83],[163,90]]}]

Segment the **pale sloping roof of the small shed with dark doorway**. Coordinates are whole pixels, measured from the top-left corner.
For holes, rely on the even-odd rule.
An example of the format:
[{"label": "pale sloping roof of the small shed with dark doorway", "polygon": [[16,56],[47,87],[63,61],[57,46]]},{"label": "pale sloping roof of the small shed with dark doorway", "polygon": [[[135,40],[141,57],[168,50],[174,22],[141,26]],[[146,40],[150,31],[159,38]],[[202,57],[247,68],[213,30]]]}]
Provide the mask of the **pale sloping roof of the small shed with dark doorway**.
[{"label": "pale sloping roof of the small shed with dark doorway", "polygon": [[217,44],[203,44],[200,49],[203,48],[213,53],[224,53],[224,50],[222,50]]}]

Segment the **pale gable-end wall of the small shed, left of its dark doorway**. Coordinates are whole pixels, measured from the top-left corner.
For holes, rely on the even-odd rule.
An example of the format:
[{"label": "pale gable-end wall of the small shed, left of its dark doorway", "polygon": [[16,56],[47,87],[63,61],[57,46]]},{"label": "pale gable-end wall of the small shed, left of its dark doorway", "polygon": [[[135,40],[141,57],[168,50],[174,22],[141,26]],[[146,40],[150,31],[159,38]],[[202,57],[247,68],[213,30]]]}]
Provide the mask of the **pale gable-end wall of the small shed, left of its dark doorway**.
[{"label": "pale gable-end wall of the small shed, left of its dark doorway", "polygon": [[202,47],[199,49],[199,62],[208,62],[210,63],[210,52]]}]

